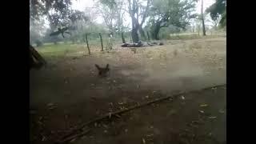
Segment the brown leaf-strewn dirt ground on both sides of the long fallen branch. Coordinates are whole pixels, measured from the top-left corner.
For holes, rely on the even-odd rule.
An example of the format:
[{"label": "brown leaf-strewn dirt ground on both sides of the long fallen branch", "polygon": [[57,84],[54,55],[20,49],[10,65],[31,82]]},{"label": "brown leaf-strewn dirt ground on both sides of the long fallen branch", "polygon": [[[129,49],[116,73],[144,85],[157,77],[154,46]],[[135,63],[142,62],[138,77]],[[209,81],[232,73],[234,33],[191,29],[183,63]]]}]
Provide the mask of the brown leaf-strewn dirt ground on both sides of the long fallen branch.
[{"label": "brown leaf-strewn dirt ground on both sides of the long fallen branch", "polygon": [[[138,102],[226,83],[226,38],[164,43],[136,53],[115,47],[70,54],[30,70],[30,142],[51,143],[74,126]],[[110,76],[98,78],[94,64],[107,63]],[[226,143],[226,86],[132,110],[90,129],[72,142]]]}]

